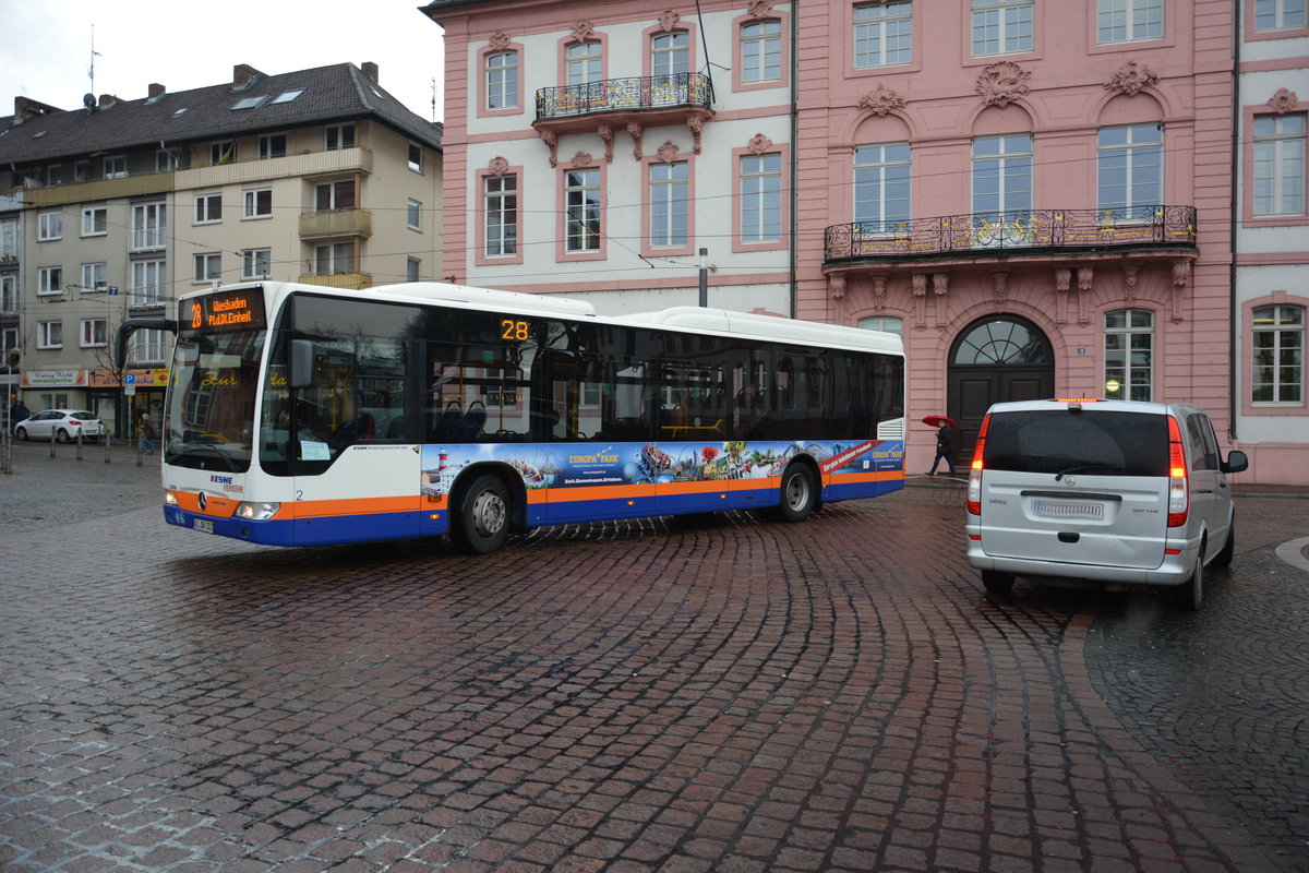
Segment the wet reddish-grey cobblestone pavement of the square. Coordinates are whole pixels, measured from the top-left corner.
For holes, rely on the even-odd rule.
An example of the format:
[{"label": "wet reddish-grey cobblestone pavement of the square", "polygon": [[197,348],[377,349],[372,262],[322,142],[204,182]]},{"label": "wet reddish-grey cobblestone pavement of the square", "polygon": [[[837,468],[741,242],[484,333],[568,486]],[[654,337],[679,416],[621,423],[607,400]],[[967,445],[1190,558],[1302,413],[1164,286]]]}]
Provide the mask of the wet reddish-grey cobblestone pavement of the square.
[{"label": "wet reddish-grey cobblestone pavement of the square", "polygon": [[1178,615],[984,597],[949,488],[473,559],[169,527],[134,459],[0,476],[5,870],[1309,870],[1309,501]]}]

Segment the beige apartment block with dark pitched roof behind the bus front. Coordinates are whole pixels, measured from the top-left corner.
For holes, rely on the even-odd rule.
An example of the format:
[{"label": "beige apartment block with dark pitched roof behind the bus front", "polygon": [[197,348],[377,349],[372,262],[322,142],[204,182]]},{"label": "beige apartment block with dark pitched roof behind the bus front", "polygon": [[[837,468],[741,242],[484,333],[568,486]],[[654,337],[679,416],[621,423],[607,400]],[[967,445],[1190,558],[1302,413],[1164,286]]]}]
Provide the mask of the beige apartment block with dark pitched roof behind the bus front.
[{"label": "beige apartment block with dark pitched roof behind the bus front", "polygon": [[441,276],[441,126],[407,110],[376,64],[264,75],[76,110],[24,97],[0,118],[10,393],[79,407],[115,433],[162,404],[178,296],[275,279],[338,288]]}]

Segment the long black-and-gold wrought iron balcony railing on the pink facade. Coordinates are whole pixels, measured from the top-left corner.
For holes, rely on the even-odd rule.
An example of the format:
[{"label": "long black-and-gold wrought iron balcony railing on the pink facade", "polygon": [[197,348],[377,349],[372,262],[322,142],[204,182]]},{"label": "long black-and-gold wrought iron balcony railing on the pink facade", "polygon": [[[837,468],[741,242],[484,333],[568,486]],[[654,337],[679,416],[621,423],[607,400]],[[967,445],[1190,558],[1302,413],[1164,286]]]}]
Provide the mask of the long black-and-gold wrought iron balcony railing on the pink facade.
[{"label": "long black-and-gold wrought iron balcony railing on the pink facade", "polygon": [[975,212],[907,221],[853,221],[831,225],[823,233],[826,263],[1152,247],[1194,249],[1195,207]]}]

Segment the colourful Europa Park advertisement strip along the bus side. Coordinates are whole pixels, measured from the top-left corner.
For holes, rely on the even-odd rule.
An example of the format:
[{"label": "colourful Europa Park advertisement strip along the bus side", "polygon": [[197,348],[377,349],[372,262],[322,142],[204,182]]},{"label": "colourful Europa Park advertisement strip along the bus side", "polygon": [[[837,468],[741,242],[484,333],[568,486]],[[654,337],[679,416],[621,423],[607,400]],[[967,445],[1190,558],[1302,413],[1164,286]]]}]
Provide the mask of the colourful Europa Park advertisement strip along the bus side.
[{"label": "colourful Europa Park advertisement strip along the bus side", "polygon": [[902,469],[902,440],[863,442],[596,442],[522,446],[424,445],[423,493],[449,493],[471,463],[499,461],[522,475],[529,488],[662,484],[780,476],[797,454],[813,457],[823,474],[891,472]]}]

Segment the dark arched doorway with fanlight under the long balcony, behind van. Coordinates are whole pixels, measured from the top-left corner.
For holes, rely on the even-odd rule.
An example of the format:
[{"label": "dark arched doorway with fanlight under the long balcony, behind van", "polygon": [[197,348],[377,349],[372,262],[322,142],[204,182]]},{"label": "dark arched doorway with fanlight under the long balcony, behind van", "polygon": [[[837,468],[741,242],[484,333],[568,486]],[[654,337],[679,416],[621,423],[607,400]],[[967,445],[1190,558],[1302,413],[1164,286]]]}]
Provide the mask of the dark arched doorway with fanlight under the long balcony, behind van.
[{"label": "dark arched doorway with fanlight under the long balcony, behind van", "polygon": [[992,403],[1039,401],[1054,390],[1054,349],[1030,321],[997,313],[963,329],[950,347],[945,395],[945,414],[959,424],[959,466],[966,469],[973,458]]}]

